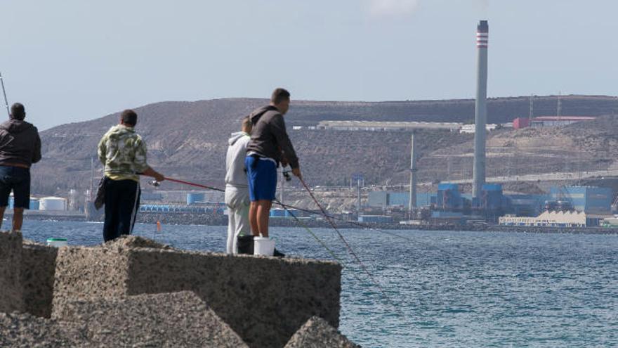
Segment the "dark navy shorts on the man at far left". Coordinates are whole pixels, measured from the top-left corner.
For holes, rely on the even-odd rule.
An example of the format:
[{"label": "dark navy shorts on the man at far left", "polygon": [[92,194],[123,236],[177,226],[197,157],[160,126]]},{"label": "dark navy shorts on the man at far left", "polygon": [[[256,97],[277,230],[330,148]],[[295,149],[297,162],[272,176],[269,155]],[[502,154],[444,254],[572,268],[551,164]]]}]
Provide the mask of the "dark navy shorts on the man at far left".
[{"label": "dark navy shorts on the man at far left", "polygon": [[0,165],[0,207],[8,205],[13,191],[13,207],[30,209],[30,169]]}]

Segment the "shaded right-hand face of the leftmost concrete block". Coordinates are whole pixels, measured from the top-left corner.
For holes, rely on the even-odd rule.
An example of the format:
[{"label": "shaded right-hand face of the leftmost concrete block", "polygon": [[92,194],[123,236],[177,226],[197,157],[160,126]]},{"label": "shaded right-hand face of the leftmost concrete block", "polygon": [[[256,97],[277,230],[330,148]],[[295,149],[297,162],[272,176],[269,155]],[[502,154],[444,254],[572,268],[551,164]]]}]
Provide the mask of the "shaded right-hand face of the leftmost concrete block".
[{"label": "shaded right-hand face of the leftmost concrete block", "polygon": [[53,281],[57,247],[24,240],[22,248],[22,287],[24,310],[35,316],[51,317]]}]

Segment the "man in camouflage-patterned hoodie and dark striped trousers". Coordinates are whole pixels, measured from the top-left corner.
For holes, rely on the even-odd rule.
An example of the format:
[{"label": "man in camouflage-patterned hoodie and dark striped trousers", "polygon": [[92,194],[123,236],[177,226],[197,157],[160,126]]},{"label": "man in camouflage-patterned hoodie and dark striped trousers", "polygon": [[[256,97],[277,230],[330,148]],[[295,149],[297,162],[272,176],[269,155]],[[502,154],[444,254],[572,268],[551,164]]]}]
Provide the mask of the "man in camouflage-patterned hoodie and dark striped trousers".
[{"label": "man in camouflage-patterned hoodie and dark striped trousers", "polygon": [[138,115],[133,110],[120,114],[120,124],[110,128],[98,145],[99,160],[105,165],[105,223],[103,240],[113,240],[131,234],[140,205],[140,178],[152,176],[157,181],[165,177],[147,165],[146,144],[136,134]]}]

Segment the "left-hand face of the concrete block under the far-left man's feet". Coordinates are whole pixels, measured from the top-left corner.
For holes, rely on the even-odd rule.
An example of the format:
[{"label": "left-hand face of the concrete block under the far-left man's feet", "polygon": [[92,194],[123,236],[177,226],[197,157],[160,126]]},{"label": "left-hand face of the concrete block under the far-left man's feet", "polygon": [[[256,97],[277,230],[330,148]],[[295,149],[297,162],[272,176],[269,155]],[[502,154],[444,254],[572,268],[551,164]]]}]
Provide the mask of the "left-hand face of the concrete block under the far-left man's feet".
[{"label": "left-hand face of the concrete block under the far-left man's feet", "polygon": [[0,232],[0,312],[23,311],[22,234]]}]

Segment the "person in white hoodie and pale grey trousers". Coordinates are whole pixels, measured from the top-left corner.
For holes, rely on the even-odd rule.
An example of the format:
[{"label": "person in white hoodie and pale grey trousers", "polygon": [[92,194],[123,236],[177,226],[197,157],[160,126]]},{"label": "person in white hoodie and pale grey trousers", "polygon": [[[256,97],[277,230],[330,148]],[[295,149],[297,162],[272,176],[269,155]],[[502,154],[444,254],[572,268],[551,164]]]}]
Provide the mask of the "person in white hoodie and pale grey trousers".
[{"label": "person in white hoodie and pale grey trousers", "polygon": [[225,205],[228,205],[228,254],[237,254],[238,236],[250,236],[249,186],[246,180],[246,144],[251,140],[251,120],[242,120],[242,131],[232,133],[225,156]]}]

